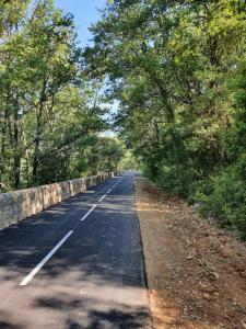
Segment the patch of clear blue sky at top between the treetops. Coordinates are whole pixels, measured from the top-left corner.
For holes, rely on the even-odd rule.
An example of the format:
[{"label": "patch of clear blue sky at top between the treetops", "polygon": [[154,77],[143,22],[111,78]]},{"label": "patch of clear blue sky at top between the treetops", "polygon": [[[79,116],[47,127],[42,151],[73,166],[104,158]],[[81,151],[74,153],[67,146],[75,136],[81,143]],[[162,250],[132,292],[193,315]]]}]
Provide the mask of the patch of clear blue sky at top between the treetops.
[{"label": "patch of clear blue sky at top between the treetops", "polygon": [[56,7],[74,15],[78,38],[81,42],[81,46],[85,46],[91,38],[91,33],[87,29],[91,23],[99,19],[96,9],[104,7],[106,0],[55,0],[54,2]]}]

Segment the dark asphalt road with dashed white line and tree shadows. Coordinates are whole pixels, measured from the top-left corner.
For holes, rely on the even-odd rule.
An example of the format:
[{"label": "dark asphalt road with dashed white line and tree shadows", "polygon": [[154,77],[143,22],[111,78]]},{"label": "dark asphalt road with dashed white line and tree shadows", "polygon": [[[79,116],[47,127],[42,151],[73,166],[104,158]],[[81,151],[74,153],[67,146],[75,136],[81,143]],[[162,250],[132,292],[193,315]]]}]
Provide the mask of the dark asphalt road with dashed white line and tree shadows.
[{"label": "dark asphalt road with dashed white line and tree shadows", "polygon": [[0,231],[0,328],[150,328],[133,177]]}]

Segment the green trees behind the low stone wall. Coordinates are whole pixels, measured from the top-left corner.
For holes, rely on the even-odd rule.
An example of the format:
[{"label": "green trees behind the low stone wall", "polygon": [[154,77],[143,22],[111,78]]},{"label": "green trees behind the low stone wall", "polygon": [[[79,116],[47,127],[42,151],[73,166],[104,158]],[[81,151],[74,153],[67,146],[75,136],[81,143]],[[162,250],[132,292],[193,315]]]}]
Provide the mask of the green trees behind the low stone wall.
[{"label": "green trees behind the low stone wall", "polygon": [[82,67],[73,18],[51,0],[0,0],[0,191],[115,170],[98,81]]}]

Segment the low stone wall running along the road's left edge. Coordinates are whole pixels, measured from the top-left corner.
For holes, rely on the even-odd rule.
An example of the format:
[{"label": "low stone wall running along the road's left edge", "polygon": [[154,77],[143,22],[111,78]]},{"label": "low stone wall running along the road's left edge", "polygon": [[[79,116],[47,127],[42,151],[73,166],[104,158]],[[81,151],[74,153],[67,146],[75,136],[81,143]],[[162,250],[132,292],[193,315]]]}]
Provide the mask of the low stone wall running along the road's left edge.
[{"label": "low stone wall running along the road's left edge", "polygon": [[0,194],[0,229],[113,178],[114,172]]}]

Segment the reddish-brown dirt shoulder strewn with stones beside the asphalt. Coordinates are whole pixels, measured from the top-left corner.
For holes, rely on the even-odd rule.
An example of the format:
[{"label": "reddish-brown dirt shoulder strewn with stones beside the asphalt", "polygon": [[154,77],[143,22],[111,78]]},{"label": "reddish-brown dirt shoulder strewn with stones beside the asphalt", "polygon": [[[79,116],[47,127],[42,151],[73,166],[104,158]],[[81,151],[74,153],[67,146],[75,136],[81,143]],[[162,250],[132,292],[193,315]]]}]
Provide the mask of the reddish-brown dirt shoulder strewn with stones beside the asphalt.
[{"label": "reddish-brown dirt shoulder strewn with stones beside the asphalt", "polygon": [[136,179],[154,328],[246,328],[246,246]]}]

